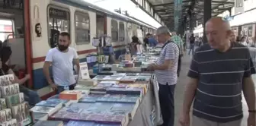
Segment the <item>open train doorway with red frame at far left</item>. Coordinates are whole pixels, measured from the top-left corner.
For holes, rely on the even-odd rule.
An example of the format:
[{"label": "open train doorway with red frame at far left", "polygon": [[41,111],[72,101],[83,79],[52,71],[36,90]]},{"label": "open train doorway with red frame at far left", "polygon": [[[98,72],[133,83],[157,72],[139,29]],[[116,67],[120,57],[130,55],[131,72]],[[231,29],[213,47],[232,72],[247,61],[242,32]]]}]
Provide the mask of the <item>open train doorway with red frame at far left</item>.
[{"label": "open train doorway with red frame at far left", "polygon": [[[27,68],[31,70],[32,67],[30,45],[27,45],[30,41],[30,24],[28,22],[25,24],[26,30],[24,29],[24,19],[30,20],[28,2],[28,0],[0,2],[0,43],[2,46],[11,47],[12,55],[9,65],[20,78],[24,76]],[[26,4],[25,10],[24,4]],[[27,71],[27,73],[31,74],[31,71]]]}]

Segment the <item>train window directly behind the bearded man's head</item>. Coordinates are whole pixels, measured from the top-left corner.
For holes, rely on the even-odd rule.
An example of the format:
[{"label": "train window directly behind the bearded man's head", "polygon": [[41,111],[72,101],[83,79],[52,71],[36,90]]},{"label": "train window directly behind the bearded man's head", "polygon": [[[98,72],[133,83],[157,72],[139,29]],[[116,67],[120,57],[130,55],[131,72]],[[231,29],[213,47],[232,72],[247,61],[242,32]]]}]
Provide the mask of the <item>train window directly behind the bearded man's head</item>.
[{"label": "train window directly behind the bearded man's head", "polygon": [[48,9],[49,45],[54,48],[59,41],[59,33],[70,33],[70,14],[62,8]]}]

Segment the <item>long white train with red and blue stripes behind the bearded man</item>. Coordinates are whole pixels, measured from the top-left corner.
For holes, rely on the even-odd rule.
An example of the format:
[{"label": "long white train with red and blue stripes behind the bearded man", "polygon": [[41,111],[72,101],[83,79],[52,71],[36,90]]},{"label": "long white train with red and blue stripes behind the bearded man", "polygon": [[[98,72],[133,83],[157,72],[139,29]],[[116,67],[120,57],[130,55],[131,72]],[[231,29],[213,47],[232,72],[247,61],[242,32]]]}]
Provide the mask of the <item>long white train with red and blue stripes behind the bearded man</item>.
[{"label": "long white train with red and blue stripes behind the bearded man", "polygon": [[37,90],[42,99],[54,95],[43,75],[46,53],[56,44],[56,33],[71,34],[71,46],[80,61],[96,52],[91,42],[97,36],[110,36],[116,57],[126,52],[132,36],[142,41],[156,27],[126,15],[107,11],[83,0],[24,0],[8,5],[0,3],[0,39],[12,49],[11,65],[20,74],[30,74],[27,87]]}]

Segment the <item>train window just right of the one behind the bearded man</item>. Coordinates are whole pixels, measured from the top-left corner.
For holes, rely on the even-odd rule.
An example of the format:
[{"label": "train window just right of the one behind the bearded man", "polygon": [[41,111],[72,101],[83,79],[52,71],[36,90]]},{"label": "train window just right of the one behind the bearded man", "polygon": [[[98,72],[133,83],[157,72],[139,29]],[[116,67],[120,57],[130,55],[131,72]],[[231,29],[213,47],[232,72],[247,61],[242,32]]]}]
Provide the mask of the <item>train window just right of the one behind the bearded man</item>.
[{"label": "train window just right of the one behind the bearded man", "polygon": [[90,43],[90,17],[87,13],[75,12],[75,43]]}]

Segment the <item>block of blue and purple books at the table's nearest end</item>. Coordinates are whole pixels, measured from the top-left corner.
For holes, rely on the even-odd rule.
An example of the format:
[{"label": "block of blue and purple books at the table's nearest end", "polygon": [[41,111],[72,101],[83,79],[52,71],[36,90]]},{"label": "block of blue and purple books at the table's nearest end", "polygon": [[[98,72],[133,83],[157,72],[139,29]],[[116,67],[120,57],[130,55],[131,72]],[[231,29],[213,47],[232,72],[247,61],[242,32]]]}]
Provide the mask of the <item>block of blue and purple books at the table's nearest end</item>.
[{"label": "block of blue and purple books at the table's nearest end", "polygon": [[[86,104],[85,104],[86,105]],[[87,104],[87,108],[81,109],[77,105],[64,107],[50,118],[62,121],[94,121],[109,124],[128,124],[129,113],[133,111],[134,104],[126,104],[120,108],[120,104],[110,102],[94,102]]]}]

